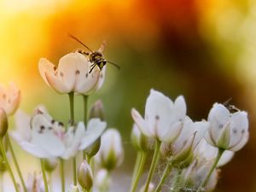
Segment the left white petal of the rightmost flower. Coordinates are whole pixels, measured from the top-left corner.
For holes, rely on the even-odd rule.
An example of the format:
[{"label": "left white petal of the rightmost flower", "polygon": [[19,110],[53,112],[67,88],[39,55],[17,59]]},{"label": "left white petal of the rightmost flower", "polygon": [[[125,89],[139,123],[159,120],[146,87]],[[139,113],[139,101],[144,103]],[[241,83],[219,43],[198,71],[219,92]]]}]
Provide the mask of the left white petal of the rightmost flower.
[{"label": "left white petal of the rightmost flower", "polygon": [[215,143],[217,143],[219,132],[223,129],[229,119],[230,111],[225,108],[224,105],[215,103],[208,114],[208,121],[211,122],[211,137]]}]

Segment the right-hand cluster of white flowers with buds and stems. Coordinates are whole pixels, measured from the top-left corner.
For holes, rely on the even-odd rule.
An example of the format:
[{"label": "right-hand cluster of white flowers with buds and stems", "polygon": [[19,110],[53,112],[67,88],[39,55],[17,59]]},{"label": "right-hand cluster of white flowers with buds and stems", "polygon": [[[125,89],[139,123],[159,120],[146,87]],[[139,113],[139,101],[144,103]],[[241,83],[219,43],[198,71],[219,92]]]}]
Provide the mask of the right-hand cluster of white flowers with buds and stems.
[{"label": "right-hand cluster of white flowers with buds and stems", "polygon": [[[160,181],[154,183],[155,192],[169,184],[170,191],[212,191],[218,181],[219,166],[231,160],[248,140],[247,113],[236,109],[233,113],[223,104],[215,103],[207,120],[193,122],[186,114],[183,96],[175,102],[156,90],[151,90],[144,118],[136,109],[131,116],[137,125],[131,138],[137,148],[140,166],[144,166],[143,155],[148,153],[149,141],[154,140],[154,157],[143,187],[147,192],[152,185],[154,169],[159,156],[166,164]],[[135,131],[135,129],[141,131]],[[142,163],[143,162],[143,163]],[[142,172],[136,167],[137,179]],[[175,174],[172,174],[174,172]],[[169,181],[166,182],[166,178]],[[133,180],[131,191],[136,191]]]}]

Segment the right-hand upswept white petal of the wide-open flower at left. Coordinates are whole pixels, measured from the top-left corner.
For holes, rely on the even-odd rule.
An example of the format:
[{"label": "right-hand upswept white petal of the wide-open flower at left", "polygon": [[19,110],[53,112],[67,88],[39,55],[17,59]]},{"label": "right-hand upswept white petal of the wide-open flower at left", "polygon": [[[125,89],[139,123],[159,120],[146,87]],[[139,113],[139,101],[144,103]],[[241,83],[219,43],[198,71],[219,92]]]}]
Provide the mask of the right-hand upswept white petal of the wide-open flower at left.
[{"label": "right-hand upswept white petal of the wide-open flower at left", "polygon": [[87,148],[90,144],[94,143],[97,138],[102,136],[106,127],[106,122],[101,121],[100,119],[90,119],[84,137],[81,139],[79,150],[84,150],[84,148]]}]

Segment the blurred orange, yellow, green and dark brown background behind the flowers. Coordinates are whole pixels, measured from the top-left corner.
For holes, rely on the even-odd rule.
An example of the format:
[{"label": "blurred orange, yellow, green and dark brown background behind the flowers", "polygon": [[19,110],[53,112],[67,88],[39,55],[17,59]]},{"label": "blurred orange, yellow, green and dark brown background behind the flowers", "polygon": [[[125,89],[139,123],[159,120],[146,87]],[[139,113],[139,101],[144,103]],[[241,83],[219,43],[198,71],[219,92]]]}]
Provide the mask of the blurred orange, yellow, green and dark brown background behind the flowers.
[{"label": "blurred orange, yellow, green and dark brown background behind the flowers", "polygon": [[[102,99],[109,127],[124,137],[120,172],[129,172],[135,160],[131,108],[143,113],[151,88],[171,98],[182,94],[193,119],[206,119],[213,102],[232,98],[249,113],[251,137],[224,166],[216,191],[256,191],[254,0],[1,0],[0,81],[20,87],[20,108],[27,113],[44,103],[56,119],[68,120],[67,96],[47,87],[38,73],[40,57],[57,64],[84,49],[67,32],[90,49],[106,40],[106,58],[121,67],[108,65],[102,90],[90,96],[90,105]],[[77,120],[81,103],[76,96]],[[26,160],[38,161],[24,152],[18,156],[22,171],[33,172]]]}]

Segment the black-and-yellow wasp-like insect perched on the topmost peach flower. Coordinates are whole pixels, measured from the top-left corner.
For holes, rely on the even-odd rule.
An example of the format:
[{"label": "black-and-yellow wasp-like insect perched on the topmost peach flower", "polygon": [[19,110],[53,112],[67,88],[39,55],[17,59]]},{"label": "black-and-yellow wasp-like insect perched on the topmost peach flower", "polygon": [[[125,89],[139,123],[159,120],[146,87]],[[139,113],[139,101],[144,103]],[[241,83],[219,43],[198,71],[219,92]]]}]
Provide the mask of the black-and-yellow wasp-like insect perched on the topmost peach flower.
[{"label": "black-and-yellow wasp-like insect perched on the topmost peach flower", "polygon": [[104,55],[102,54],[103,49],[106,46],[106,42],[103,42],[103,44],[101,45],[100,49],[98,50],[92,50],[90,49],[87,45],[85,45],[83,42],[81,42],[79,40],[79,38],[74,37],[72,34],[68,33],[68,37],[69,38],[73,38],[75,41],[79,42],[79,44],[82,44],[86,49],[88,49],[89,51],[85,51],[85,50],[77,50],[80,54],[86,56],[88,58],[88,60],[92,63],[90,66],[90,72],[92,72],[92,70],[97,66],[99,67],[100,70],[102,70],[102,68],[107,64],[111,64],[114,67],[117,67],[118,69],[120,69],[119,65],[108,61],[105,59]]}]

